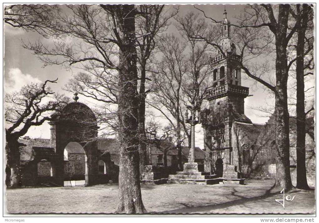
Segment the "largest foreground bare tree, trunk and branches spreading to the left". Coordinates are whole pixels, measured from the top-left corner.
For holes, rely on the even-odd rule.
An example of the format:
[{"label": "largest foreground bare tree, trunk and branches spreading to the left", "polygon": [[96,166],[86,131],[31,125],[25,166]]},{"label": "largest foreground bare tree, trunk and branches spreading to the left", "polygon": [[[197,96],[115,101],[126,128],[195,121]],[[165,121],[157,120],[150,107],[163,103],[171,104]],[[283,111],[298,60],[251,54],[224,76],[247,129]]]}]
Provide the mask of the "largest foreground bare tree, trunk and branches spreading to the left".
[{"label": "largest foreground bare tree, trunk and branches spreading to the left", "polygon": [[47,46],[41,41],[28,42],[24,47],[32,50],[44,66],[96,69],[106,78],[116,74],[120,147],[117,212],[143,213],[145,208],[139,184],[135,29],[135,18],[143,12],[135,5],[64,5],[50,9],[50,19],[55,22],[38,21],[45,27],[39,33],[45,38],[55,37],[54,43]]}]

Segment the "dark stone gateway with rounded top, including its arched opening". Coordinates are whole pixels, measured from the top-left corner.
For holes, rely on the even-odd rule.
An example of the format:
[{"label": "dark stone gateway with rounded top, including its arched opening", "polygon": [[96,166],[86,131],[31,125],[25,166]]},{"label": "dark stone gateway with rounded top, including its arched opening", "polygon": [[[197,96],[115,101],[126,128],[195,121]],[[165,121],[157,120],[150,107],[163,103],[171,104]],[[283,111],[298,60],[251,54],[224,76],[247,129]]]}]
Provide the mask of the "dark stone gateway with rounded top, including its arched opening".
[{"label": "dark stone gateway with rounded top, including its arched opening", "polygon": [[93,111],[85,104],[72,102],[54,116],[54,121],[49,124],[51,141],[54,142],[57,156],[54,177],[58,184],[61,186],[96,184],[98,126]]}]

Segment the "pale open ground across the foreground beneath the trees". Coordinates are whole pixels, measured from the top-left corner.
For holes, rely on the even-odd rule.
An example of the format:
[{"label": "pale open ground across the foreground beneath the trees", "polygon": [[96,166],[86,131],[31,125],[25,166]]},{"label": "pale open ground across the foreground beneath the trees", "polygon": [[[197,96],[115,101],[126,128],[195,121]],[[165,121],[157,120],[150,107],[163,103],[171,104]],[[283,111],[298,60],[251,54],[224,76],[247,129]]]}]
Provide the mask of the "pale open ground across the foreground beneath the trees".
[{"label": "pale open ground across the foreground beneath the trees", "polygon": [[[149,213],[311,213],[315,191],[292,190],[285,209],[273,180],[246,180],[245,185],[161,184],[142,185]],[[290,197],[288,197],[289,200]],[[118,185],[90,187],[22,188],[6,191],[10,213],[114,213]]]}]

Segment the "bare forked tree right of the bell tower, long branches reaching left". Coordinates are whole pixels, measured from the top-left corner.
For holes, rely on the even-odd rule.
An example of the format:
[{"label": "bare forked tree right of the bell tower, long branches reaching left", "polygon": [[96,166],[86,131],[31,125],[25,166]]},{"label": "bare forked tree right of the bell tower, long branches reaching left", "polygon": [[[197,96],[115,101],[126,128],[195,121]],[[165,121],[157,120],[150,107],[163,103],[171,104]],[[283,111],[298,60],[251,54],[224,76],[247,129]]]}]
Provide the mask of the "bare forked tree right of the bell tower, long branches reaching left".
[{"label": "bare forked tree right of the bell tower, long branches reaching left", "polygon": [[[238,18],[239,24],[229,24],[240,28],[240,30],[246,30],[246,32],[256,32],[254,30],[258,30],[261,35],[263,35],[263,32],[267,33],[270,31],[274,38],[276,49],[275,85],[253,75],[253,73],[250,72],[249,67],[245,66],[242,62],[240,63],[240,68],[243,69],[249,77],[260,82],[275,94],[276,145],[278,155],[276,185],[283,187],[286,190],[289,190],[292,187],[289,164],[289,113],[287,107],[287,79],[291,64],[288,64],[287,61],[287,46],[301,21],[301,18],[292,21],[289,17],[290,10],[291,5],[289,4],[247,5],[244,12],[241,14],[241,17]],[[204,13],[203,10],[200,11]],[[213,23],[225,24],[224,21],[217,21],[216,19],[207,17],[205,13],[204,16]],[[221,47],[216,43],[210,42],[209,38],[203,36],[197,36],[195,38],[211,43],[211,45],[222,52]],[[245,47],[249,48],[249,45]],[[257,49],[256,46],[253,48]],[[223,53],[223,55],[226,56],[225,53]]]}]

